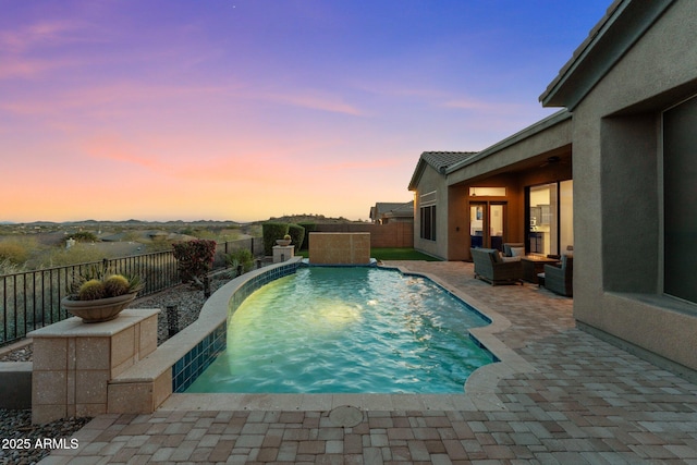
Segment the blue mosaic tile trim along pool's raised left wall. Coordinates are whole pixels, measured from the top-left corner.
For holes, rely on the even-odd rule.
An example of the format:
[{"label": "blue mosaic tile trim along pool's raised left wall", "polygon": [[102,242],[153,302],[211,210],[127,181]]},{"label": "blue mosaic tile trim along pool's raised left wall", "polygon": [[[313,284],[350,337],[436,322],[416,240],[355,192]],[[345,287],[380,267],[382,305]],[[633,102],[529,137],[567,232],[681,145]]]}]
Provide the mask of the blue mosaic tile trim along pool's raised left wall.
[{"label": "blue mosaic tile trim along pool's raised left wall", "polygon": [[[295,273],[298,264],[284,265],[248,280],[230,299],[230,309],[236,310],[253,292],[271,281]],[[188,389],[218,354],[225,350],[228,345],[227,332],[228,323],[223,322],[174,364],[172,367],[173,392],[184,392]]]}]

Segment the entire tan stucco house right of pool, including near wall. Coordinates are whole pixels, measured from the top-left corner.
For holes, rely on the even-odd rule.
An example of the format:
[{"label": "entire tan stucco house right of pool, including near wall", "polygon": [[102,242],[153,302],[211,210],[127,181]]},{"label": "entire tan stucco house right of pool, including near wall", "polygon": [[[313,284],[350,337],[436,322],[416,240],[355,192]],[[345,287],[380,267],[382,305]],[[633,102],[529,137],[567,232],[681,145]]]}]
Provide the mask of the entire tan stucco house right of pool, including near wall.
[{"label": "entire tan stucco house right of pool, including near wall", "polygon": [[[695,30],[693,0],[614,1],[540,97],[563,110],[444,170],[433,244],[419,235],[431,186],[412,180],[415,247],[468,259],[477,228],[485,246],[572,245],[578,327],[697,378]],[[498,189],[479,203],[477,187]]]}]

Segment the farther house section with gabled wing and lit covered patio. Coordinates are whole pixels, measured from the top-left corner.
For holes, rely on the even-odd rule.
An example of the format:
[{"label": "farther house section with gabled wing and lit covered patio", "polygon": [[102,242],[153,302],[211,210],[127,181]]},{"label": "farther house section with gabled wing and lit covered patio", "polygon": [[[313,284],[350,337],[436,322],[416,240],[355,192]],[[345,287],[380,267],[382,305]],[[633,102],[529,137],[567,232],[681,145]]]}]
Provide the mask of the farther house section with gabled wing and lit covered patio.
[{"label": "farther house section with gabled wing and lit covered patio", "polygon": [[470,247],[525,242],[559,255],[573,246],[571,127],[560,111],[480,152],[421,154],[409,182],[414,247],[469,260]]}]

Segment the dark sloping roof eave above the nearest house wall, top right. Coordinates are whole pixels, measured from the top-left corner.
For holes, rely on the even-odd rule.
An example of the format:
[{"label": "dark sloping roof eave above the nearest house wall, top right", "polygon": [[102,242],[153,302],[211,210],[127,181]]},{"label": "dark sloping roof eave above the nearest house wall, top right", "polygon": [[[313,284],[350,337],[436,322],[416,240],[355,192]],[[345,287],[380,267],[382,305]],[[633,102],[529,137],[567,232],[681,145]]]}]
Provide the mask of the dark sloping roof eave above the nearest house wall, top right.
[{"label": "dark sloping roof eave above the nearest house wall, top right", "polygon": [[550,83],[543,107],[574,108],[674,0],[615,0]]}]

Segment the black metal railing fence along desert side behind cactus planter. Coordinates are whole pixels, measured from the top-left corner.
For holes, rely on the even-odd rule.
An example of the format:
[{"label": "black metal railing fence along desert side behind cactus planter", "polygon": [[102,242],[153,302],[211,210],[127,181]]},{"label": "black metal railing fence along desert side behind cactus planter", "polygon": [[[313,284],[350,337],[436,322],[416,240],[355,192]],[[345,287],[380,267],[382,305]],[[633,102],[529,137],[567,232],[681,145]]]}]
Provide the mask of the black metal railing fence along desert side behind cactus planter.
[{"label": "black metal railing fence along desert side behind cactus planter", "polygon": [[[225,254],[248,248],[256,256],[259,247],[262,254],[264,244],[259,237],[219,243],[213,270],[227,267]],[[68,286],[78,276],[95,266],[114,273],[140,276],[145,280],[145,287],[138,296],[180,284],[176,259],[171,250],[0,276],[0,346],[70,317],[61,308],[61,298],[68,294]]]}]

